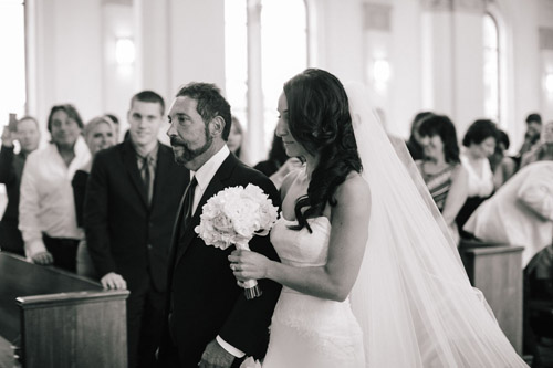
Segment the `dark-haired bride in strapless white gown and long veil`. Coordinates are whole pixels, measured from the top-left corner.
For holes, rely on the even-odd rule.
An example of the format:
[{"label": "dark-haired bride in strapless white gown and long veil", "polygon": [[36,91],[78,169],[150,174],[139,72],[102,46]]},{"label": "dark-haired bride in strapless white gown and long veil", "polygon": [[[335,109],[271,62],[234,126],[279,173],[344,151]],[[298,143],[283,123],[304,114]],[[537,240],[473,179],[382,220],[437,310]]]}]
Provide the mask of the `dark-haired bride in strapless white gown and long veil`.
[{"label": "dark-haired bride in strapless white gown and long veil", "polygon": [[229,257],[239,282],[283,285],[263,368],[525,367],[367,103],[322,70],[284,84],[276,134],[306,165],[281,187],[282,263]]}]

